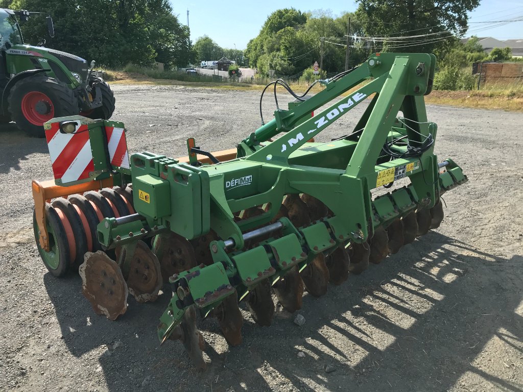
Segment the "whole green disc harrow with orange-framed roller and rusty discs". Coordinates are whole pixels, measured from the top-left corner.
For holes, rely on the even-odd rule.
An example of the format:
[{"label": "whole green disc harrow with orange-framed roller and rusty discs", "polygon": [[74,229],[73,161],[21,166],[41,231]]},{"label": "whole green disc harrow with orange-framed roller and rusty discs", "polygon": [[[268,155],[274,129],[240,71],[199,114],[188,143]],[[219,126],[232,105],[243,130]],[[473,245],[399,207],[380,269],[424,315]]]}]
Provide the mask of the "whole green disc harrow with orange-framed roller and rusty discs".
[{"label": "whole green disc harrow with orange-framed roller and rusty discs", "polygon": [[[275,91],[282,85],[297,98],[287,110],[278,107],[233,151],[205,152],[191,138],[186,158],[143,152],[115,164],[112,137],[123,124],[53,119],[55,180],[33,181],[44,263],[55,276],[78,270],[84,295],[109,319],[126,312],[129,293],[154,301],[163,287],[172,298],[158,339],[180,340],[205,368],[197,314],[215,317],[226,341],[240,344],[238,303],[269,326],[273,294],[295,312],[304,291],[319,297],[440,225],[441,195],[467,177],[434,154],[424,95],[435,64],[431,54],[376,53],[320,80],[325,88],[308,99],[277,80]],[[354,130],[311,141],[358,105]],[[90,169],[71,180],[51,146],[86,135]]]}]

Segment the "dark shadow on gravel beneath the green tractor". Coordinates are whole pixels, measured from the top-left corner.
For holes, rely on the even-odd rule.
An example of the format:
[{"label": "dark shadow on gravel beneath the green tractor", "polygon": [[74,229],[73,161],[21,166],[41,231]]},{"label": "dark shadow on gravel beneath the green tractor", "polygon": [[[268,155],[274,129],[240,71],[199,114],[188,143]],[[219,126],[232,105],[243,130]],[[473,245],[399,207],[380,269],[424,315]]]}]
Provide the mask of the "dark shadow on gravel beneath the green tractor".
[{"label": "dark shadow on gravel beneath the green tractor", "polygon": [[7,173],[11,168],[20,170],[20,161],[27,160],[30,154],[49,153],[45,139],[27,136],[13,122],[0,125],[0,132],[0,173]]}]

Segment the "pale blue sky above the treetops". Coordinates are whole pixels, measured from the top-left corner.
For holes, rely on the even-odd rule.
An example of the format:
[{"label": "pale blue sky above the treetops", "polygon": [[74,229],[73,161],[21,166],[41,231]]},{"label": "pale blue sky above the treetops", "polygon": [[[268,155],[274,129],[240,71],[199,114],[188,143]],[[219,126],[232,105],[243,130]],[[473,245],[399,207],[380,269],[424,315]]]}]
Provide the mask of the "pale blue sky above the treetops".
[{"label": "pale blue sky above the treetops", "polygon": [[[247,42],[255,38],[267,17],[279,8],[294,7],[301,11],[330,9],[333,16],[344,11],[354,12],[357,4],[354,1],[339,0],[277,0],[234,2],[212,2],[208,0],[170,0],[174,13],[179,21],[187,24],[189,10],[189,28],[194,43],[198,37],[207,34],[222,48],[245,49]],[[518,17],[520,16],[520,17]],[[502,21],[520,19],[503,24],[482,23],[485,21]],[[502,25],[502,26],[499,26]],[[469,32],[467,37],[494,37],[499,40],[523,39],[523,0],[483,0],[480,6],[469,14]]]}]

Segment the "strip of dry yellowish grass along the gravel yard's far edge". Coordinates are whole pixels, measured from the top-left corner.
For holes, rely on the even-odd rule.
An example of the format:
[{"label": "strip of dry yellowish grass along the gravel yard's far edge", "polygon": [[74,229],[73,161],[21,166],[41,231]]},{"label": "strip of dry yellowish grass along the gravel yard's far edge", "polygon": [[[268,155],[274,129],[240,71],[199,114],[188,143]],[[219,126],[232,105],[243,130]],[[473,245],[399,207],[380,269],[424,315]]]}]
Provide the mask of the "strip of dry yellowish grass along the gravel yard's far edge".
[{"label": "strip of dry yellowish grass along the gravel yard's far edge", "polygon": [[[132,64],[124,67],[122,71],[107,70],[104,77],[111,84],[177,85],[195,88],[255,91],[261,91],[265,88],[265,84],[257,84],[258,80],[255,80],[255,83],[216,82],[210,76],[193,76],[178,71],[161,72]],[[292,83],[291,88],[301,93],[305,91],[306,86],[303,83]],[[283,90],[281,87],[278,89]],[[322,89],[323,87],[319,85],[314,86],[311,93],[318,93]],[[353,90],[351,89],[350,91]],[[348,94],[350,94],[350,91]],[[496,82],[487,81],[487,83],[481,86],[480,90],[433,90],[425,97],[425,100],[433,105],[523,112],[523,78],[503,79]]]}]

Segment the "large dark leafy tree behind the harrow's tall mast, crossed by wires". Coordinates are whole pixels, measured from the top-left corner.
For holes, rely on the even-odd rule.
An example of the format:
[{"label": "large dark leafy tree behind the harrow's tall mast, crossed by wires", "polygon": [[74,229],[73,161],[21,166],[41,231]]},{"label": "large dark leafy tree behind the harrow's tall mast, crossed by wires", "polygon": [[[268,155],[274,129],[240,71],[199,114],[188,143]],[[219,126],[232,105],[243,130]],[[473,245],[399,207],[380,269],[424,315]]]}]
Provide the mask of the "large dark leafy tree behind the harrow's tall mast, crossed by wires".
[{"label": "large dark leafy tree behind the harrow's tall mast, crossed by wires", "polygon": [[357,2],[356,16],[365,35],[378,37],[373,49],[426,53],[452,45],[454,36],[462,36],[468,29],[468,13],[480,4],[480,0]]}]

